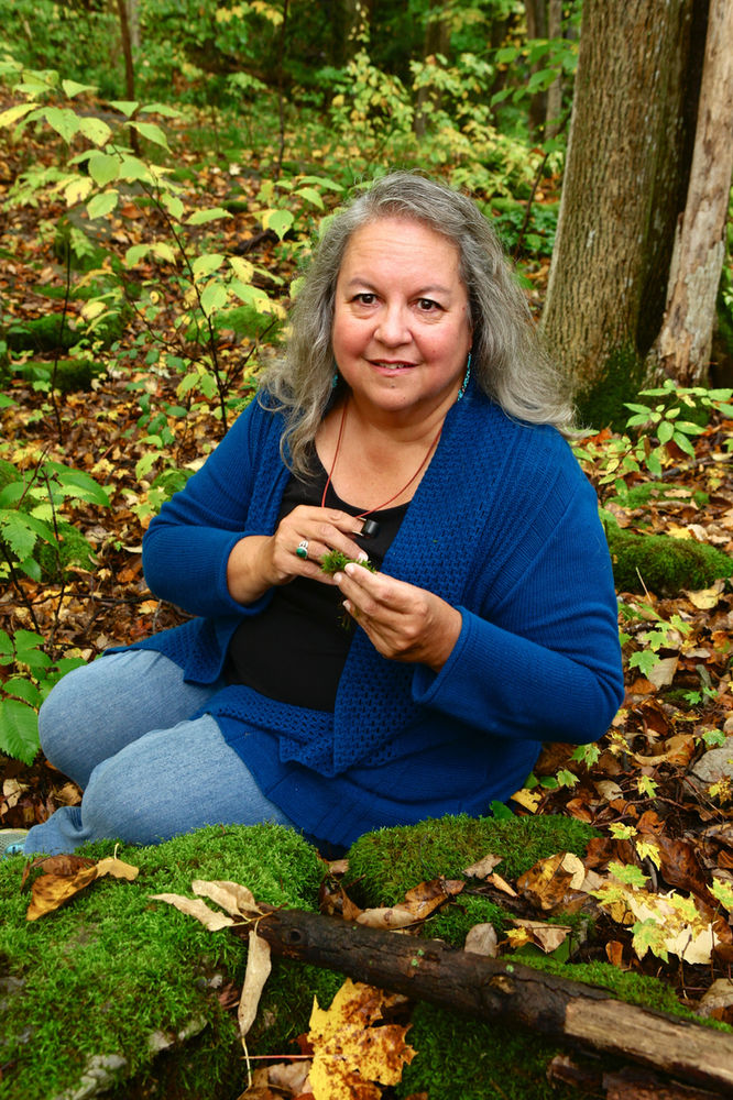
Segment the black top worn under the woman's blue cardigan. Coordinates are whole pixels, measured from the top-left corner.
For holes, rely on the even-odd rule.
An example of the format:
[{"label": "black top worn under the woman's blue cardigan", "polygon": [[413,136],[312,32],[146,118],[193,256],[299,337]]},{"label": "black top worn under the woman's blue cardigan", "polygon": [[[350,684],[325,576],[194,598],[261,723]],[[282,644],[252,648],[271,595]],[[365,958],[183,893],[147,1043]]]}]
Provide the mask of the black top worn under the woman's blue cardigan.
[{"label": "black top worn under the woman's blue cardigan", "polygon": [[[328,475],[315,459],[316,476],[307,482],[292,476],[285,486],[278,521],[298,504],[320,507]],[[352,516],[364,509],[347,504],[331,485],[326,507],[339,508]],[[379,522],[372,538],[352,536],[380,569],[392,540],[407,512],[407,504],[371,512]],[[229,646],[226,674],[229,683],[248,684],[262,695],[332,711],[339,678],[353,636],[353,620],[342,609],[339,588],[307,578],[296,578],[276,587],[270,604],[260,615],[243,619]]]}]

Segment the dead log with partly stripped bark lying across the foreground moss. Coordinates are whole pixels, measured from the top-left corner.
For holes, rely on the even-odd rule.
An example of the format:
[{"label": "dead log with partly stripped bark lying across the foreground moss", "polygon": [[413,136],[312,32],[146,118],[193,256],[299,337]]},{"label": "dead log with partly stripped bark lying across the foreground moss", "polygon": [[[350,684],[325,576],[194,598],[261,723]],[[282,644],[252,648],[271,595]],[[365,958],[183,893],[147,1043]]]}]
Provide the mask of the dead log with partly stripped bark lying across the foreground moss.
[{"label": "dead log with partly stripped bark lying across the foreground moss", "polygon": [[[247,936],[250,927],[232,932]],[[285,958],[453,1012],[516,1023],[733,1097],[733,1035],[626,1004],[603,989],[317,913],[273,910],[258,928]]]}]

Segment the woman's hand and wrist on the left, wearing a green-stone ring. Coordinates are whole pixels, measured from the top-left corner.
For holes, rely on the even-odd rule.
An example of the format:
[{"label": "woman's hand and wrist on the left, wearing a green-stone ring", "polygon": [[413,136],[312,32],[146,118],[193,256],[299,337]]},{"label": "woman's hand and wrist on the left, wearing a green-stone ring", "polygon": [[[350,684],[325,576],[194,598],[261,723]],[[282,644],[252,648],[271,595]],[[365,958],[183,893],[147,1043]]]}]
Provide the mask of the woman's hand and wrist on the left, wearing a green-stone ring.
[{"label": "woman's hand and wrist on the left, wearing a green-stone ring", "polygon": [[[340,550],[347,558],[366,558],[351,536],[359,535],[362,520],[337,508],[300,504],[277,525],[274,535],[248,535],[234,546],[227,562],[229,594],[240,604],[251,604],[273,585],[307,576],[322,584],[333,579],[320,568],[321,558]],[[308,557],[296,550],[308,543]]]}]

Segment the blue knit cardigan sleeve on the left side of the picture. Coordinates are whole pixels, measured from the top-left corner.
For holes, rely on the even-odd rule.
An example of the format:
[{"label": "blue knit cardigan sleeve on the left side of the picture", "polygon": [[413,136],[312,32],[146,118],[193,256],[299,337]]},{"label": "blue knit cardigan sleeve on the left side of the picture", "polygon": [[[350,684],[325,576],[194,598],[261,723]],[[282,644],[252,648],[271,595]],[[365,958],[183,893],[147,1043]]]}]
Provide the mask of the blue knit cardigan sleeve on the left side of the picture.
[{"label": "blue knit cardigan sleeve on the left side of the picture", "polygon": [[[238,417],[203,468],[182,492],[166,502],[143,538],[143,570],[149,587],[192,615],[247,615],[260,610],[265,594],[243,607],[229,594],[227,562],[249,529],[254,480],[263,468],[274,480],[272,433],[275,416],[256,400]],[[267,465],[272,464],[272,469]]]}]

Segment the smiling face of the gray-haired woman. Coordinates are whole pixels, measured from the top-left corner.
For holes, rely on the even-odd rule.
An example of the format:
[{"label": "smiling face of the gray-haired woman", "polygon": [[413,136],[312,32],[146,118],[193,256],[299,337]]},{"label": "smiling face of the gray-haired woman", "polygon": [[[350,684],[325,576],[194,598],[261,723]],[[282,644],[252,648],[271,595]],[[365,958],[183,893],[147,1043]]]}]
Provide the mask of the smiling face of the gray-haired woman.
[{"label": "smiling face of the gray-haired woman", "polygon": [[353,234],[336,285],[331,341],[366,415],[401,422],[445,415],[471,338],[452,241],[408,218],[380,218]]}]

